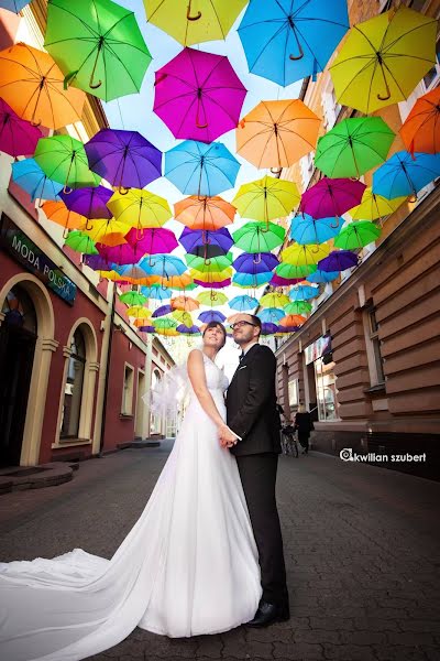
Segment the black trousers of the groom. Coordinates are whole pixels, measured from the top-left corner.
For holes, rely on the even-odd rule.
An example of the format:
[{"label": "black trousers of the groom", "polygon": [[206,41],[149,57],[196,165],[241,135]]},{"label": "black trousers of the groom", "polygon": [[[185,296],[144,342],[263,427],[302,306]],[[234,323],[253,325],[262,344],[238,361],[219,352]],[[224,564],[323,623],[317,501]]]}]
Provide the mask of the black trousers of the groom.
[{"label": "black trousers of the groom", "polygon": [[237,463],[258,549],[262,599],[288,606],[283,538],[275,498],[278,455],[238,456]]}]

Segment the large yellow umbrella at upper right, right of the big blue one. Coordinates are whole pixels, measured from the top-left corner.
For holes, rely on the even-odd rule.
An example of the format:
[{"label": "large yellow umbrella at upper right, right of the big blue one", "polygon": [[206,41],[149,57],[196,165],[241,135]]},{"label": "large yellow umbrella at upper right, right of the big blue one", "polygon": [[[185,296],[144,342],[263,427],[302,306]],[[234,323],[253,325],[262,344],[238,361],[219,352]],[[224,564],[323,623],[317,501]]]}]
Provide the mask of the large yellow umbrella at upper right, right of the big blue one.
[{"label": "large yellow umbrella at upper right, right of the big blue one", "polygon": [[330,66],[338,101],[365,115],[404,101],[436,64],[436,34],[403,6],[353,25]]}]

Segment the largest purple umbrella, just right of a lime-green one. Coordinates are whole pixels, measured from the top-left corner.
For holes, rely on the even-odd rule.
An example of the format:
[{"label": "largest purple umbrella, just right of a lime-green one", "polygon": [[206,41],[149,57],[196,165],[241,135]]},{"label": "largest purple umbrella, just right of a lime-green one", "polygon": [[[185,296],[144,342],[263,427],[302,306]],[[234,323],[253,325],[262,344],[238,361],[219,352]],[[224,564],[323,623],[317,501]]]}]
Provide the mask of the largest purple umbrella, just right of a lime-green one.
[{"label": "largest purple umbrella, just right of a lime-green one", "polygon": [[90,170],[119,192],[143,188],[162,176],[162,152],[138,131],[101,129],[85,144]]}]

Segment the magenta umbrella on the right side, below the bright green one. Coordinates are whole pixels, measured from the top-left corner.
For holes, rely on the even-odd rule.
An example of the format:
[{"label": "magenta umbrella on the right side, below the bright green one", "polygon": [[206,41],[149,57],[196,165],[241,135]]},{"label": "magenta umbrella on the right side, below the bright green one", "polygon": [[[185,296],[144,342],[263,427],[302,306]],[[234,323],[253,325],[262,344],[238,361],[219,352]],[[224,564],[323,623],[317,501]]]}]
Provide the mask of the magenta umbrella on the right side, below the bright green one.
[{"label": "magenta umbrella on the right side, below the bright green one", "polygon": [[342,216],[361,203],[365,188],[358,180],[326,176],[302,193],[300,210],[312,218]]}]

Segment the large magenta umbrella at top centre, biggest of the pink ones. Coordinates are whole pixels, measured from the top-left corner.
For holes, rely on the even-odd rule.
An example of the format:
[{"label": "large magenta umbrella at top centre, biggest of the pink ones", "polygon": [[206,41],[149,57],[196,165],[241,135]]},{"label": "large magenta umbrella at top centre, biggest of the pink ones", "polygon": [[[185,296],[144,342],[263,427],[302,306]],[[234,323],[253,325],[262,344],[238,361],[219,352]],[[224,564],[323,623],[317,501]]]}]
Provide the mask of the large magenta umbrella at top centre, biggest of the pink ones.
[{"label": "large magenta umbrella at top centre, biggest of the pink ones", "polygon": [[235,129],[246,89],[228,57],[184,48],[156,72],[154,111],[175,138],[212,142]]}]

